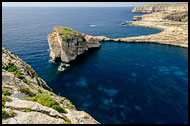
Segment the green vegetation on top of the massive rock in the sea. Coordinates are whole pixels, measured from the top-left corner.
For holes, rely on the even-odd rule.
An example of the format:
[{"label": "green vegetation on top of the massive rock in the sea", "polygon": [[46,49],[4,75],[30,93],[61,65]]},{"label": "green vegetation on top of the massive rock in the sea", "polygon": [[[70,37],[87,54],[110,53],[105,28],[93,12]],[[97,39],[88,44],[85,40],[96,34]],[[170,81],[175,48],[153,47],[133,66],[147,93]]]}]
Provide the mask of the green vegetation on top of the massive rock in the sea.
[{"label": "green vegetation on top of the massive rock in the sea", "polygon": [[67,40],[69,36],[71,35],[76,35],[76,34],[80,34],[79,32],[70,29],[70,28],[66,28],[66,27],[56,27],[58,30],[59,35],[62,37],[62,39]]}]

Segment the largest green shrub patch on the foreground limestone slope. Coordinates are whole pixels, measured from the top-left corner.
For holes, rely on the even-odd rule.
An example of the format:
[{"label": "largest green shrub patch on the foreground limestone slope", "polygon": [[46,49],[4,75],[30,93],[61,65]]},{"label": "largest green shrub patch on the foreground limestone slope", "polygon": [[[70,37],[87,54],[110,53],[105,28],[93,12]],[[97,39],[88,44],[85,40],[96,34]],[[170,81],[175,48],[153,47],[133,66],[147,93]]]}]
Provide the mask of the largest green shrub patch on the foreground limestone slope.
[{"label": "largest green shrub patch on the foreground limestone slope", "polygon": [[59,106],[57,101],[55,101],[53,98],[51,98],[50,96],[46,94],[37,93],[34,97],[27,97],[25,98],[25,100],[38,102],[44,106],[53,108],[60,113],[67,113],[67,111],[64,108]]}]

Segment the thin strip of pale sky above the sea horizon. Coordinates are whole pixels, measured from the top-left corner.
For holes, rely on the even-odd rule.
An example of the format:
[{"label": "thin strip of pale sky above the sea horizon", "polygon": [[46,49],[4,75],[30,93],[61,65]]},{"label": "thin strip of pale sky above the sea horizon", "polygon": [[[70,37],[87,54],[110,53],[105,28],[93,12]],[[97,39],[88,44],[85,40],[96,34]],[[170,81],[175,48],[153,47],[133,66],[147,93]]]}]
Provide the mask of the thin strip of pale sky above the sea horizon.
[{"label": "thin strip of pale sky above the sea horizon", "polygon": [[2,2],[3,7],[134,7],[144,4],[184,2]]}]

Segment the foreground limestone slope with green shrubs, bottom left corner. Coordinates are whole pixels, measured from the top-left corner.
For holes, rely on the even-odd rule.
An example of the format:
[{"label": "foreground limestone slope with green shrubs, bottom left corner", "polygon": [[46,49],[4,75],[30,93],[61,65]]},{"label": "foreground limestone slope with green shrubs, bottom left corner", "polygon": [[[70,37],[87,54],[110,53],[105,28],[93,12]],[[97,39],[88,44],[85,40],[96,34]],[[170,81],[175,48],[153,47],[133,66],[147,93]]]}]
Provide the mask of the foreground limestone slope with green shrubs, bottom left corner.
[{"label": "foreground limestone slope with green shrubs, bottom left corner", "polygon": [[3,124],[99,124],[52,92],[30,65],[2,48]]}]

